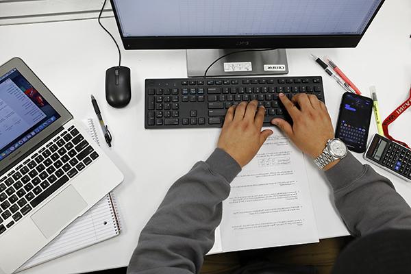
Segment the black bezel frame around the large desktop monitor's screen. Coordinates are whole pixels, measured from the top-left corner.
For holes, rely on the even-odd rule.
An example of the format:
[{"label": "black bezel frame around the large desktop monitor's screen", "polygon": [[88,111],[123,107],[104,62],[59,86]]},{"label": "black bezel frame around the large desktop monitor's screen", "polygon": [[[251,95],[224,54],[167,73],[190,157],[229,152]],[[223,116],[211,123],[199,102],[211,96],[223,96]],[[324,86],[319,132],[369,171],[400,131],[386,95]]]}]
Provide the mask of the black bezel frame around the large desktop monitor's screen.
[{"label": "black bezel frame around the large desktop monitor's screen", "polygon": [[385,0],[379,3],[362,34],[310,36],[133,36],[121,30],[114,0],[110,0],[124,49],[301,49],[357,47]]}]

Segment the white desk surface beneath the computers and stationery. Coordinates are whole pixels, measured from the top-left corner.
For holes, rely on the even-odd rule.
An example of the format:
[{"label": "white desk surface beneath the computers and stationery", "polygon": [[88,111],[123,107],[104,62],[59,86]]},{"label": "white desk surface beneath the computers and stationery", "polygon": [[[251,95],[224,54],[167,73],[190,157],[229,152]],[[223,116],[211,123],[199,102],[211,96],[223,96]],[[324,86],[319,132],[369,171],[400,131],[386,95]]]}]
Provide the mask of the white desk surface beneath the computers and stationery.
[{"label": "white desk surface beneath the computers and stationery", "polygon": [[[120,42],[114,18],[103,20]],[[411,1],[390,0],[382,6],[356,49],[290,49],[289,75],[322,75],[327,107],[334,125],[342,89],[321,71],[310,53],[329,55],[351,80],[369,95],[378,91],[385,118],[409,95],[411,84]],[[116,49],[97,20],[0,27],[0,63],[19,56],[75,115],[94,117],[90,94],[99,101],[103,118],[114,136],[111,150],[103,147],[125,175],[114,190],[123,223],[120,236],[53,260],[24,273],[81,273],[126,266],[138,235],[162,201],[166,190],[198,160],[205,160],[215,144],[210,129],[146,130],[146,78],[186,77],[184,50],[123,51],[123,65],[132,69],[132,101],[121,110],[104,101],[105,70],[117,63]],[[399,140],[411,143],[411,112],[390,127]],[[219,129],[212,129],[219,130]],[[376,132],[371,122],[372,136]],[[362,162],[362,155],[356,155]],[[332,202],[332,192],[321,172],[307,162],[314,212],[321,238],[347,235]],[[375,167],[393,180],[411,204],[411,184]]]}]

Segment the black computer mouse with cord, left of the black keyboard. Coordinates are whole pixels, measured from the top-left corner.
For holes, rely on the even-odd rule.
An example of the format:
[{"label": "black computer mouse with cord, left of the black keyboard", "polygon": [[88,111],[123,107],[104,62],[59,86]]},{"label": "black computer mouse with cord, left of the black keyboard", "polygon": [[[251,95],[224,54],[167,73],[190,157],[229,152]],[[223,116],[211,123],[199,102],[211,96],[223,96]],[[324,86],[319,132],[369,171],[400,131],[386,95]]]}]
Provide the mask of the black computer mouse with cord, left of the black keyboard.
[{"label": "black computer mouse with cord, left of the black keyboard", "polygon": [[132,99],[130,69],[113,66],[105,71],[105,99],[113,108],[124,108]]}]

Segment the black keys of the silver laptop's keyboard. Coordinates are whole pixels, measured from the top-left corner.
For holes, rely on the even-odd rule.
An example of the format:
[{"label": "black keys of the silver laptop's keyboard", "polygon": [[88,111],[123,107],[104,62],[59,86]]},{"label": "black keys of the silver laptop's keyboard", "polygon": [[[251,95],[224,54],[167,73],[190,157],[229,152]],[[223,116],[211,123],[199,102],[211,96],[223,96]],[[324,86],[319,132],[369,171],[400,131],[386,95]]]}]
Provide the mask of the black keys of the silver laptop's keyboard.
[{"label": "black keys of the silver laptop's keyboard", "polygon": [[0,178],[0,234],[99,158],[75,126]]}]

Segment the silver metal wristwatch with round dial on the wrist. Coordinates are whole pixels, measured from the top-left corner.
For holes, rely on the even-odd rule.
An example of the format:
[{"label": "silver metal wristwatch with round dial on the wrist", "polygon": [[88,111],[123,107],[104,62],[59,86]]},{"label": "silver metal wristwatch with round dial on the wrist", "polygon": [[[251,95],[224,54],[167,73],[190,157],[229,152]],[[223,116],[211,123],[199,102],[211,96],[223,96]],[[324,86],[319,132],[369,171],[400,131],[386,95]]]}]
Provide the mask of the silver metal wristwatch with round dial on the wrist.
[{"label": "silver metal wristwatch with round dial on the wrist", "polygon": [[348,153],[347,146],[340,139],[329,139],[323,153],[319,157],[314,159],[314,163],[319,166],[320,169],[324,169],[327,164],[336,160],[343,159]]}]

